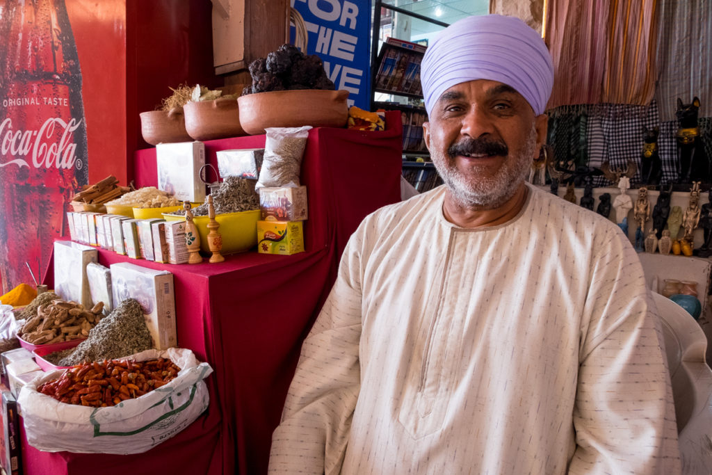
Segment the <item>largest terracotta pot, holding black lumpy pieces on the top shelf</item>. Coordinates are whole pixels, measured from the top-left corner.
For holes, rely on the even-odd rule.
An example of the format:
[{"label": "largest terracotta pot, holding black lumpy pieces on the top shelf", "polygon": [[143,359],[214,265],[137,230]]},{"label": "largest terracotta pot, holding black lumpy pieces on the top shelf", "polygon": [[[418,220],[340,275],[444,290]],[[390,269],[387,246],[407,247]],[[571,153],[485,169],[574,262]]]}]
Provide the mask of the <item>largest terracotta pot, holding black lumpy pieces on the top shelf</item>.
[{"label": "largest terracotta pot, holding black lumpy pieces on the top shelf", "polygon": [[344,127],[348,119],[347,90],[275,90],[238,98],[240,123],[250,135],[266,127]]}]

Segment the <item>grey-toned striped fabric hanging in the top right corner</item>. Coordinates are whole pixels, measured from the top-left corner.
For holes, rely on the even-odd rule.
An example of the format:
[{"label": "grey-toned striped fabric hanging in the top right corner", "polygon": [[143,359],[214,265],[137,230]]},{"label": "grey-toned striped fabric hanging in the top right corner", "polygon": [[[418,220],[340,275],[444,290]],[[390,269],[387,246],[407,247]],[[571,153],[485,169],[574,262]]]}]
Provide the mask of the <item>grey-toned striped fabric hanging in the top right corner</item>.
[{"label": "grey-toned striped fabric hanging in the top right corner", "polygon": [[[676,120],[677,99],[697,96],[700,117],[712,116],[712,2],[657,0],[660,12],[655,92],[660,120]],[[712,156],[712,155],[708,155]]]}]

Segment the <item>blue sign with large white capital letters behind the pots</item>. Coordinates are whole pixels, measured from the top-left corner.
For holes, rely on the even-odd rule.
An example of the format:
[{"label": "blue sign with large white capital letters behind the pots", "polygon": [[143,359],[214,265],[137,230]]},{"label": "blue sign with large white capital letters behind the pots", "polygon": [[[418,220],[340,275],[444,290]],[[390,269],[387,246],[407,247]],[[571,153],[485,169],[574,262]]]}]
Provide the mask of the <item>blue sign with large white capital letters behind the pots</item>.
[{"label": "blue sign with large white capital letters behind the pots", "polygon": [[[371,105],[370,0],[291,0],[308,31],[307,51],[324,63],[337,89],[349,91],[348,103]],[[294,26],[290,35],[295,36]]]}]

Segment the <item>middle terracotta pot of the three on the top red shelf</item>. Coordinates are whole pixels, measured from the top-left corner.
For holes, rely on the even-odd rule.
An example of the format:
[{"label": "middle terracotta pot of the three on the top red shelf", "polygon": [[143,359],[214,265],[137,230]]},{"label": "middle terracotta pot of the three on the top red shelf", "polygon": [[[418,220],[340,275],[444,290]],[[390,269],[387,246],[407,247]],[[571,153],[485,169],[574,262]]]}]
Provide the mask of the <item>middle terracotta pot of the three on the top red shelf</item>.
[{"label": "middle terracotta pot of the three on the top red shelf", "polygon": [[240,125],[237,100],[218,98],[183,106],[185,129],[194,140],[215,140],[246,135]]}]

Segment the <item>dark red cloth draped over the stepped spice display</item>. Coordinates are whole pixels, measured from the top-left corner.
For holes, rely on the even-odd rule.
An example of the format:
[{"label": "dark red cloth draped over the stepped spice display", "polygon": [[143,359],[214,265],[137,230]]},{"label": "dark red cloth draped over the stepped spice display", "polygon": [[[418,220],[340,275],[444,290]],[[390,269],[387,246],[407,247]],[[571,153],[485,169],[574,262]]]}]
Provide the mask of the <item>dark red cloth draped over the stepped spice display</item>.
[{"label": "dark red cloth draped over the stepped spice display", "polygon": [[[387,125],[384,132],[310,131],[301,176],[309,202],[305,253],[248,252],[219,264],[174,266],[100,249],[99,261],[107,266],[133,261],[174,273],[178,343],[213,367],[206,380],[210,407],[177,437],[140,456],[47,454],[28,447],[26,473],[94,474],[103,460],[109,461],[103,474],[266,473],[302,340],[333,284],[343,247],[366,214],[399,200],[399,114],[388,113]],[[206,160],[217,168],[217,150],[264,142],[264,135],[205,142]],[[137,187],[155,186],[155,149],[137,152],[135,169]],[[49,285],[51,278],[48,272]],[[166,457],[174,465],[165,465]]]}]

